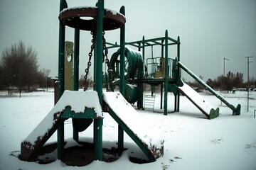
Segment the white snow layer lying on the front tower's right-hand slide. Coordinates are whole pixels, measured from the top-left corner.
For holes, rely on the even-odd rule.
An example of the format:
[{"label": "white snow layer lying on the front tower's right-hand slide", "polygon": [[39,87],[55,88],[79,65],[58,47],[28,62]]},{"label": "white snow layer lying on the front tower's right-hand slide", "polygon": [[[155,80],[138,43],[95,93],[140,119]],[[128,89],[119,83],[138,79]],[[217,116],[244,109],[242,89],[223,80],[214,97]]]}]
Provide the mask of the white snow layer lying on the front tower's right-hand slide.
[{"label": "white snow layer lying on the front tower's right-hand slide", "polygon": [[[146,117],[140,115],[130,103],[119,92],[104,92],[104,101],[110,106],[112,111],[139,137],[149,148],[161,148],[164,140],[159,132],[149,132],[144,127]],[[159,152],[159,150],[157,150]],[[160,154],[160,153],[156,153]]]}]

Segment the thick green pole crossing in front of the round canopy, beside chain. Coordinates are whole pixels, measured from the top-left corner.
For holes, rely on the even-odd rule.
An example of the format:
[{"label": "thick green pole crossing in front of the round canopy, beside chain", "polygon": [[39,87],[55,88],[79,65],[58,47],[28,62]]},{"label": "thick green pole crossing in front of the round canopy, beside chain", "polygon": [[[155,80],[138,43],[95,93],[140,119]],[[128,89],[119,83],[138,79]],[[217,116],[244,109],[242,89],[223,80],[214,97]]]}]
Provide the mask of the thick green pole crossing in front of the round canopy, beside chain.
[{"label": "thick green pole crossing in front of the round canopy, beside chain", "polygon": [[[103,16],[104,16],[104,0],[97,2],[97,30],[96,30],[96,67],[94,74],[97,75],[95,86],[102,106],[102,32],[103,32]],[[103,119],[95,119],[94,121],[94,137],[95,137],[95,159],[102,161],[102,125]]]}]

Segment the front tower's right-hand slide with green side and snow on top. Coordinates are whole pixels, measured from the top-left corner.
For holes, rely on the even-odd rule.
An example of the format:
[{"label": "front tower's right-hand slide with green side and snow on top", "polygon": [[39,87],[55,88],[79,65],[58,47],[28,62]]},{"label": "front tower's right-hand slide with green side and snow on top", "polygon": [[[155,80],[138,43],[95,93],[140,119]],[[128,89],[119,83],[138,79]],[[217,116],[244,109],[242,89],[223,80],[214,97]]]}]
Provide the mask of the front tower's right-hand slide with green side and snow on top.
[{"label": "front tower's right-hand slide with green side and snow on top", "polygon": [[144,128],[146,120],[139,114],[119,92],[104,92],[103,100],[110,108],[110,115],[122,129],[142,149],[142,152],[154,162],[164,154],[164,140],[159,137],[160,132],[153,134]]}]

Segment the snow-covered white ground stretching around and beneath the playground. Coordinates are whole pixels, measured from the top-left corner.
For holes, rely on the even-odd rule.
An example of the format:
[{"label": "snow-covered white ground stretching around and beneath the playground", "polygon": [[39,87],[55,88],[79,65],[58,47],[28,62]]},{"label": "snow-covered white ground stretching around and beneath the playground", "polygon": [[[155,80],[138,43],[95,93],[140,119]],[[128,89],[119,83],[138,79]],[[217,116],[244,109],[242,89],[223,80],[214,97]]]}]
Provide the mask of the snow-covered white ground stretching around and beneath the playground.
[{"label": "snow-covered white ground stretching around and beneath the playground", "polygon": [[[220,117],[206,119],[201,111],[187,98],[181,96],[179,113],[153,113],[151,109],[139,110],[144,117],[145,133],[154,132],[164,139],[164,157],[149,164],[135,164],[129,155],[139,150],[129,136],[124,135],[122,157],[112,163],[95,161],[87,166],[67,166],[59,160],[50,164],[23,162],[17,158],[21,142],[43,120],[53,108],[53,92],[28,94],[0,94],[0,169],[256,169],[256,91],[250,91],[250,107],[247,112],[247,92],[222,94],[235,107],[241,104],[241,115],[234,116],[230,108],[221,104],[218,98],[202,93],[215,108],[220,108]],[[174,96],[169,94],[169,111],[174,109]],[[78,101],[79,102],[79,101]],[[156,95],[154,110],[159,110],[159,95]],[[161,111],[163,112],[163,111]],[[127,113],[129,114],[129,113]],[[134,121],[137,121],[134,118]],[[72,122],[65,121],[65,139],[71,140]],[[92,126],[81,132],[85,140],[92,140]],[[56,134],[48,143],[56,142]],[[105,114],[103,124],[103,147],[117,147],[117,123]],[[51,157],[57,157],[53,152]]]}]

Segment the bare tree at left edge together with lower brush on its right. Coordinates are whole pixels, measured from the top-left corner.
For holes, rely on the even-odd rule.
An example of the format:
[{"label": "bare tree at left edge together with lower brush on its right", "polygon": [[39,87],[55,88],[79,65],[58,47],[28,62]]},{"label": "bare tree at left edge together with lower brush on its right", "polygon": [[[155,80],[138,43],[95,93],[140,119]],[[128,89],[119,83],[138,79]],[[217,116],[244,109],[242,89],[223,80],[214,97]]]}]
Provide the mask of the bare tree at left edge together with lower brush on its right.
[{"label": "bare tree at left edge together with lower brush on its right", "polygon": [[19,41],[2,51],[0,89],[26,89],[47,86],[49,69],[39,69],[37,52]]}]

